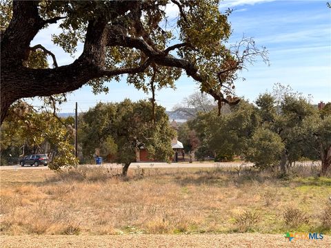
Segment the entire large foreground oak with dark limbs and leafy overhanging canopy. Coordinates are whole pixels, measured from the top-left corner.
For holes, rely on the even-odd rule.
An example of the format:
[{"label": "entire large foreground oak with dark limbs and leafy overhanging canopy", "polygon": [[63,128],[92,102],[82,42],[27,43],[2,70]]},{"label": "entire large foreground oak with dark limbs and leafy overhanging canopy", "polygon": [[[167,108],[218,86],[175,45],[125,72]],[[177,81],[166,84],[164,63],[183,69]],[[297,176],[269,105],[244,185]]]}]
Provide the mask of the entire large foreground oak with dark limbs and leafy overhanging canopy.
[{"label": "entire large foreground oak with dark limbs and leafy overhanging canopy", "polygon": [[[179,17],[167,17],[169,4]],[[108,91],[105,82],[120,80],[145,92],[174,87],[185,72],[201,92],[219,104],[237,103],[237,72],[265,48],[252,39],[227,44],[231,34],[227,12],[218,0],[201,1],[10,1],[1,0],[1,123],[14,101],[61,94],[91,85]],[[52,41],[68,54],[83,43],[81,55],[59,66],[43,44],[30,46],[40,30],[58,23]],[[53,65],[48,65],[47,58]],[[32,90],[36,89],[36,90]]]}]

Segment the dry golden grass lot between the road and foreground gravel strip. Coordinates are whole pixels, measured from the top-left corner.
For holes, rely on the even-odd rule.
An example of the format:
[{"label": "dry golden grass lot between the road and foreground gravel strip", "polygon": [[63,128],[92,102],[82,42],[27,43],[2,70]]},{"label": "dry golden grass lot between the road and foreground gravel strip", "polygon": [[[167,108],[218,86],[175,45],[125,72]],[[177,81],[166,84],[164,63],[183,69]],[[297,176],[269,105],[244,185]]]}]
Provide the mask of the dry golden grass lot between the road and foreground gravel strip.
[{"label": "dry golden grass lot between the road and foreground gravel strip", "polygon": [[331,234],[331,178],[246,169],[0,172],[1,234]]}]

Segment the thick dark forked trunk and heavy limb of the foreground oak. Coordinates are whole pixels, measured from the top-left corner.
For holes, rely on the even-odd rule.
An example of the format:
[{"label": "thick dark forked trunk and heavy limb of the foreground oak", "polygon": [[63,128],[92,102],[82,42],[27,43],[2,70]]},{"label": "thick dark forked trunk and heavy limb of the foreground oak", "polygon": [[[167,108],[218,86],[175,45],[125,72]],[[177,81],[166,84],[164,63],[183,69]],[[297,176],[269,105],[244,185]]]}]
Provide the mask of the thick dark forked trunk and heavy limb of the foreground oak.
[{"label": "thick dark forked trunk and heavy limb of the foreground oak", "polygon": [[106,20],[88,23],[83,53],[74,63],[54,69],[24,66],[32,39],[44,25],[57,19],[41,19],[38,4],[38,1],[14,1],[12,19],[1,34],[1,124],[8,107],[17,99],[70,92],[91,79],[103,76]]}]

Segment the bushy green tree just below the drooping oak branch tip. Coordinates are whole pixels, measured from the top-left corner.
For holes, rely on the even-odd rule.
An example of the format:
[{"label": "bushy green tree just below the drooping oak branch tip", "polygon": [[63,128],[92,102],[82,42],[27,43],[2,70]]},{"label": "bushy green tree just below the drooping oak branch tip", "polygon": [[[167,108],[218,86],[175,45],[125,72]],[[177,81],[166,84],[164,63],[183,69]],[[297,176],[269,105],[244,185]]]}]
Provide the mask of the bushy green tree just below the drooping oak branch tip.
[{"label": "bushy green tree just below the drooping oak branch tip", "polygon": [[216,112],[200,112],[190,122],[190,127],[197,132],[201,142],[197,156],[216,154],[219,159],[229,159],[235,155],[244,155],[258,125],[254,106],[241,101],[221,116],[217,116]]}]

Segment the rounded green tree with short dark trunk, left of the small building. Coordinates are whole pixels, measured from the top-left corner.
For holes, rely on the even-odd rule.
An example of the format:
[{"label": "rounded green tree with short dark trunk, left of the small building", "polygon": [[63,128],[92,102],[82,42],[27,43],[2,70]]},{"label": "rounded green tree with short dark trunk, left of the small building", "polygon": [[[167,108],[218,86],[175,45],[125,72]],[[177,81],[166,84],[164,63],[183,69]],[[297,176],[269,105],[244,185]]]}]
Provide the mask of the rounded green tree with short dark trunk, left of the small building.
[{"label": "rounded green tree with short dark trunk, left of the small building", "polygon": [[146,148],[150,158],[169,161],[174,131],[168,122],[165,109],[156,105],[153,116],[148,101],[98,103],[83,115],[83,154],[92,156],[99,149],[110,161],[123,165],[123,176],[140,148]]}]

